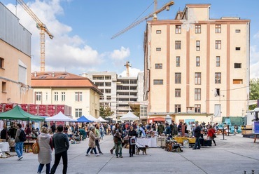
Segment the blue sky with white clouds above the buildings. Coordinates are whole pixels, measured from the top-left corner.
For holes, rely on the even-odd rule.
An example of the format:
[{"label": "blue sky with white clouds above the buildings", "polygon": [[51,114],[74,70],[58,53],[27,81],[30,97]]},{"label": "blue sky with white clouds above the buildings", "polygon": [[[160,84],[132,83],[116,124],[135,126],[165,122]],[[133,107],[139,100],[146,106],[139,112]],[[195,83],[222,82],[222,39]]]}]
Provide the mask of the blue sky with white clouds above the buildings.
[{"label": "blue sky with white clouds above the buildings", "polygon": [[[31,72],[40,71],[40,30],[16,0],[0,0],[31,32]],[[146,21],[111,39],[132,22],[154,11],[153,0],[24,0],[43,22],[54,39],[45,34],[45,71],[116,72],[125,76],[130,61],[130,76],[144,71],[144,31]],[[169,0],[158,0],[161,8]],[[210,18],[239,17],[251,20],[251,78],[259,78],[259,1],[258,0],[175,0],[170,11],[158,20],[174,19],[186,4],[211,4]],[[151,18],[149,19],[151,20]]]}]

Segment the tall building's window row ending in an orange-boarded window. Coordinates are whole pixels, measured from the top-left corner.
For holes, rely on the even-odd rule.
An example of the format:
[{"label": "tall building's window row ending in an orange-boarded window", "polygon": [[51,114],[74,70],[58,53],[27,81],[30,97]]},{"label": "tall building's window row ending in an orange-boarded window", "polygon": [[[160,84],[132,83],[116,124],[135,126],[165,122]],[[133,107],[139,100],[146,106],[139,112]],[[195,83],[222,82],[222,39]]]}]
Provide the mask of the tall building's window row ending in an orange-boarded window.
[{"label": "tall building's window row ending in an orange-boarded window", "polygon": [[[215,84],[220,84],[221,83],[221,72],[216,72],[215,73]],[[163,79],[155,79],[153,81],[154,85],[162,85]],[[176,84],[181,84],[181,72],[176,72],[174,74],[174,83]],[[195,72],[195,85],[200,85],[202,84],[202,73],[201,72]],[[233,79],[233,84],[243,84],[242,79]]]}]

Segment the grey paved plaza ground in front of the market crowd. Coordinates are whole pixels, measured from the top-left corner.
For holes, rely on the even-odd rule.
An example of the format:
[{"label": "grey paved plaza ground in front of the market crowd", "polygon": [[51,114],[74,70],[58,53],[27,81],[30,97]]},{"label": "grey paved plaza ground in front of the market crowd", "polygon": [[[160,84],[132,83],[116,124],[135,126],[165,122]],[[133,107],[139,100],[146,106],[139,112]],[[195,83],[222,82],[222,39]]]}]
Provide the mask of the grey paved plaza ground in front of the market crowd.
[{"label": "grey paved plaza ground in front of the market crowd", "polygon": [[[113,147],[111,135],[105,136],[100,145],[103,155],[85,156],[88,139],[69,148],[68,174],[83,173],[259,173],[259,140],[242,138],[239,135],[216,138],[217,146],[193,150],[183,148],[183,152],[166,152],[162,148],[148,149],[148,155],[134,155],[130,158],[128,149],[123,148],[123,159],[110,154]],[[11,152],[11,154],[15,154]],[[53,153],[54,154],[54,153]],[[17,156],[0,159],[0,173],[32,174],[37,172],[37,155],[25,153],[21,161]],[[54,163],[54,156],[51,166]],[[45,173],[45,167],[43,172]],[[62,173],[62,161],[56,173]]]}]

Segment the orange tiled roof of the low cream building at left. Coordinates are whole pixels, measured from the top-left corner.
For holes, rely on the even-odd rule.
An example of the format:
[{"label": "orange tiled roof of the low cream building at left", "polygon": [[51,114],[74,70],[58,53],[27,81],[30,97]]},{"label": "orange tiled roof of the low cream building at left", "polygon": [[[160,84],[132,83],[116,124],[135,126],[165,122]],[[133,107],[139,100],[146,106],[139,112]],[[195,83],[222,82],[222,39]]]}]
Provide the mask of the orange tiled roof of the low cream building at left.
[{"label": "orange tiled roof of the low cream building at left", "polygon": [[31,87],[59,87],[59,88],[92,88],[102,94],[90,79],[68,72],[33,72],[31,73]]}]

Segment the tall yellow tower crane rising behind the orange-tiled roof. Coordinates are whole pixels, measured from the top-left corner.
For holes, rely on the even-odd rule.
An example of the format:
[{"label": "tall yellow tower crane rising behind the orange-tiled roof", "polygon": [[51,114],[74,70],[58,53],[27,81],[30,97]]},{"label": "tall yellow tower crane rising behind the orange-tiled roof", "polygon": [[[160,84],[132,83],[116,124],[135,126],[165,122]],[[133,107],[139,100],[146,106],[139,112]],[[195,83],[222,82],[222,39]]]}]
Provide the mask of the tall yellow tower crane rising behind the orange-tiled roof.
[{"label": "tall yellow tower crane rising behind the orange-tiled roof", "polygon": [[50,39],[53,39],[53,35],[48,31],[48,28],[41,22],[41,20],[38,19],[38,17],[31,11],[29,6],[25,4],[22,0],[17,0],[18,3],[22,6],[22,8],[27,11],[27,13],[33,18],[36,22],[36,27],[38,29],[41,29],[40,32],[40,41],[41,41],[41,72],[45,72],[45,33],[50,36]]}]

